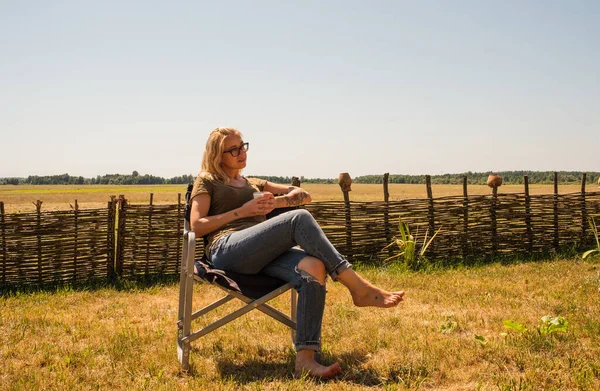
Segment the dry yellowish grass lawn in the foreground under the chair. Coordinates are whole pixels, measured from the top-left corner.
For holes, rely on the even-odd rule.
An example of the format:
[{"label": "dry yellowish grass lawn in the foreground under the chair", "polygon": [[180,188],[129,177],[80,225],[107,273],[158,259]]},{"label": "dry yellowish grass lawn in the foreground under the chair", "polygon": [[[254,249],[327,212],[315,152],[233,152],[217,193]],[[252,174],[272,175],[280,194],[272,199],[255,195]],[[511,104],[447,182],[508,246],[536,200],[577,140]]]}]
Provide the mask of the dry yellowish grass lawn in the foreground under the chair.
[{"label": "dry yellowish grass lawn in the foreground under the chair", "polygon": [[[0,389],[600,388],[597,263],[361,272],[406,289],[406,301],[391,310],[355,308],[340,284],[328,285],[323,361],[344,368],[333,381],[294,380],[289,332],[261,313],[196,341],[192,370],[181,373],[178,288],[168,284],[0,298]],[[214,287],[196,287],[198,306],[217,296]],[[287,297],[276,305],[285,308]],[[502,324],[514,319],[535,329],[544,315],[564,316],[568,332],[520,335]]]}]

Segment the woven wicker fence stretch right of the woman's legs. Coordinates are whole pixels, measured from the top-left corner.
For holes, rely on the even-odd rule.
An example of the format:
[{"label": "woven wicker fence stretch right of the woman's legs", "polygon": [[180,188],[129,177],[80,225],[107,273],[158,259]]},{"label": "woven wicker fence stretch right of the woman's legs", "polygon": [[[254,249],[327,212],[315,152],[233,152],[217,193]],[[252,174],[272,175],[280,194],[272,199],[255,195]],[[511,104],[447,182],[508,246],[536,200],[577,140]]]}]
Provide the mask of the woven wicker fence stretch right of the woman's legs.
[{"label": "woven wicker fence stretch right of the woman's legs", "polygon": [[[390,202],[318,202],[307,205],[342,254],[361,262],[393,255],[382,249],[398,233],[398,219],[422,240],[440,229],[427,257],[432,260],[494,257],[591,245],[588,217],[600,216],[600,193],[503,194]],[[350,215],[347,226],[346,215]]]}]

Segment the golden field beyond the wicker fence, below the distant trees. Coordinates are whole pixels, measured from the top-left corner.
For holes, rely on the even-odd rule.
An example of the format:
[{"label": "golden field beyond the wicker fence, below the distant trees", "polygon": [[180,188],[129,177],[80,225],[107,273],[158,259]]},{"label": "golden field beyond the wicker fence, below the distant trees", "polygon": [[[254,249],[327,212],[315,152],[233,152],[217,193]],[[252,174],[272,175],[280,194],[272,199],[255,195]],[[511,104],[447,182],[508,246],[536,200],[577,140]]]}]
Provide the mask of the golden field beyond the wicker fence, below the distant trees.
[{"label": "golden field beyond the wicker fence, below the distant trees", "polygon": [[[303,184],[315,201],[343,200],[343,194],[338,185]],[[433,185],[433,196],[443,197],[462,195],[461,185]],[[559,192],[573,193],[581,190],[580,185],[562,185]],[[589,191],[595,191],[595,187]],[[424,198],[427,196],[425,185],[391,184],[390,199]],[[505,185],[499,188],[499,193],[522,193],[521,185]],[[552,185],[530,185],[531,194],[551,194]],[[177,194],[185,195],[185,185],[2,185],[0,186],[0,201],[4,202],[7,213],[35,211],[33,203],[43,201],[42,210],[68,210],[77,200],[80,208],[102,208],[111,195],[123,194],[130,203],[141,204],[150,201],[153,193],[155,204],[175,204]],[[470,185],[469,194],[490,194],[491,190],[485,185]],[[383,200],[383,186],[369,184],[353,184],[350,199],[354,201]]]}]

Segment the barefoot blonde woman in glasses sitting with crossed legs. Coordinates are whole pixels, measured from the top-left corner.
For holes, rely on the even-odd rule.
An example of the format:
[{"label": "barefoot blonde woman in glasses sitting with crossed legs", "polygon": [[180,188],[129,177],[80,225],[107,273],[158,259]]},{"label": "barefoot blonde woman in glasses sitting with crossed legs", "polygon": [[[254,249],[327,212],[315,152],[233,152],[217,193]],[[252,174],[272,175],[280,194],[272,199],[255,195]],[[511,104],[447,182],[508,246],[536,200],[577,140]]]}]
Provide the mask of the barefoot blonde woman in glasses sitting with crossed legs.
[{"label": "barefoot blonde woman in glasses sitting with crossed legs", "polygon": [[[243,177],[248,146],[236,129],[212,131],[191,194],[192,229],[197,237],[208,236],[206,252],[216,268],[262,271],[293,283],[298,291],[296,375],[336,376],[341,373],[338,363],[326,367],[314,358],[321,344],[327,274],[348,288],[359,307],[393,307],[404,292],[384,291],[354,272],[306,210],[266,220],[275,208],[304,205],[311,197],[298,187]],[[253,198],[258,191],[264,193]]]}]

